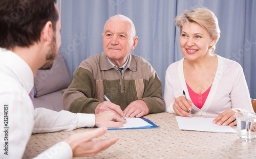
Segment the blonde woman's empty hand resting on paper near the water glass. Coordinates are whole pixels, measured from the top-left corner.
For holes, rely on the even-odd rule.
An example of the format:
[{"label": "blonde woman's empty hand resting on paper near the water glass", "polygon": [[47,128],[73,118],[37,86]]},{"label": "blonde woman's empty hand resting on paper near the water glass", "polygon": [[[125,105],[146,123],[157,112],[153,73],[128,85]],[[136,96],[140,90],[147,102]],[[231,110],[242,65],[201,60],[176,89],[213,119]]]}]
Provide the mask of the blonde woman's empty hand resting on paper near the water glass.
[{"label": "blonde woman's empty hand resting on paper near the water glass", "polygon": [[234,126],[237,125],[236,116],[234,116],[237,112],[240,111],[233,111],[231,109],[227,109],[223,113],[221,113],[217,118],[212,121],[214,124],[217,123],[217,125],[229,125]]}]

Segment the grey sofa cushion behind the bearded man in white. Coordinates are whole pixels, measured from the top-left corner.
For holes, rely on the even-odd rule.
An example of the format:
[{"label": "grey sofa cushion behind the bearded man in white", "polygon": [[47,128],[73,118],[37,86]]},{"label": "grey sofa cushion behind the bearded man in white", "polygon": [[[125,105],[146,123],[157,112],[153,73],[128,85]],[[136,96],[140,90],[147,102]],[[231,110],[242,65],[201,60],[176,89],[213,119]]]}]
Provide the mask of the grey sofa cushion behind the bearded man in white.
[{"label": "grey sofa cushion behind the bearded man in white", "polygon": [[68,88],[70,76],[65,61],[58,52],[49,70],[37,70],[34,78],[34,95],[39,97],[61,89]]}]

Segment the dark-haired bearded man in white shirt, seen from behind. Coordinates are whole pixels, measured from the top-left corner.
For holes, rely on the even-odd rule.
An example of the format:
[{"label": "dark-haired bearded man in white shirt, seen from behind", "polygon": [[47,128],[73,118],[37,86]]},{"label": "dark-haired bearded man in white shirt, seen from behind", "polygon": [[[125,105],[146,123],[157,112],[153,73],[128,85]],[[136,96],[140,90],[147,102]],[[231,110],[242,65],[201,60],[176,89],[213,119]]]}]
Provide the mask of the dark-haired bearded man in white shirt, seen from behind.
[{"label": "dark-haired bearded man in white shirt, seen from behind", "polygon": [[[31,133],[94,125],[121,127],[121,122],[125,123],[112,112],[94,115],[44,108],[34,110],[33,78],[37,69],[51,68],[61,43],[60,15],[55,3],[54,0],[0,2],[0,123],[4,129],[0,131],[0,145],[4,147],[0,158],[22,158]],[[37,158],[96,155],[118,140],[92,141],[106,131],[106,128],[99,128],[75,134]]]}]

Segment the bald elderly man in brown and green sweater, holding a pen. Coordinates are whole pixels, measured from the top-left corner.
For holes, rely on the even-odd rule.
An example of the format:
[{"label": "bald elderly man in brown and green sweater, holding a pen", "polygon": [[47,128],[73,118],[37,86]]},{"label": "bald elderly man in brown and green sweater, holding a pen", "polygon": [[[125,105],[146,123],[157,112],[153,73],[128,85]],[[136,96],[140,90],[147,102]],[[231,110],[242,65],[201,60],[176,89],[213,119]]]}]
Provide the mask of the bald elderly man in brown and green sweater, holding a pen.
[{"label": "bald elderly man in brown and green sweater, holding a pen", "polygon": [[[162,83],[144,59],[130,54],[137,43],[131,19],[115,15],[104,26],[103,50],[81,62],[63,94],[65,110],[74,113],[112,111],[141,117],[165,111]],[[104,95],[110,99],[105,101]]]}]

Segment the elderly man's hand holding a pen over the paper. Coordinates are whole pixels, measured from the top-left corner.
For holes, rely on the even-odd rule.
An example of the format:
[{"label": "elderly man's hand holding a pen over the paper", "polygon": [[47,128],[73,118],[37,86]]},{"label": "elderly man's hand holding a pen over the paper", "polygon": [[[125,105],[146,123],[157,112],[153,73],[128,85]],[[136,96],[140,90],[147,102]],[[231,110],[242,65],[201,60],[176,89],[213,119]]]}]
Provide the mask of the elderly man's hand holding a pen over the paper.
[{"label": "elderly man's hand holding a pen over the paper", "polygon": [[105,112],[105,111],[114,112],[118,116],[123,115],[123,111],[121,110],[120,106],[110,101],[103,101],[99,103],[95,109],[95,114]]}]

